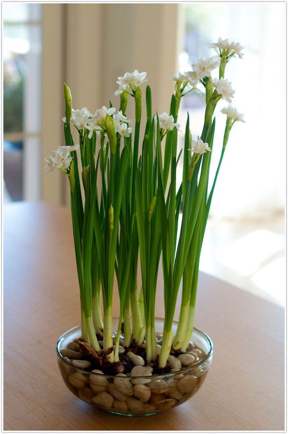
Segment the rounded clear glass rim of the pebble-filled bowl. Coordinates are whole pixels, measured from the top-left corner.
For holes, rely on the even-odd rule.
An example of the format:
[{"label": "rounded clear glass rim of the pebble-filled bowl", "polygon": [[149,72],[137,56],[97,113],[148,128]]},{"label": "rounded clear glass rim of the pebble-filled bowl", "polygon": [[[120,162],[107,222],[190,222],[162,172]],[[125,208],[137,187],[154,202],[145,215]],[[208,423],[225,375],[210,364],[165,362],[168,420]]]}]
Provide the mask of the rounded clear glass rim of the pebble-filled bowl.
[{"label": "rounded clear glass rim of the pebble-filled bowl", "polygon": [[[163,318],[155,318],[155,320],[163,320],[164,321],[164,319]],[[178,321],[173,321],[173,322],[178,322]],[[101,375],[101,376],[105,376],[105,377],[108,377],[108,378],[115,378],[115,377],[117,377],[117,378],[125,378],[125,377],[119,377],[119,376],[116,376],[116,375],[107,375],[107,374],[98,374],[98,373],[96,373],[96,372],[93,372],[93,371],[91,371],[91,370],[88,370],[88,369],[84,369],[84,368],[79,368],[79,367],[76,367],[76,366],[73,366],[73,365],[71,365],[71,363],[70,362],[67,362],[67,360],[65,360],[64,359],[64,356],[62,356],[62,354],[60,353],[60,350],[59,350],[59,345],[60,345],[60,343],[61,343],[61,341],[64,339],[64,337],[69,333],[69,332],[73,332],[73,330],[75,330],[75,329],[79,329],[80,328],[80,330],[81,330],[81,326],[80,325],[76,325],[76,326],[74,326],[74,327],[71,327],[71,328],[69,328],[68,330],[66,330],[66,332],[64,332],[60,337],[59,337],[59,339],[57,340],[57,343],[56,343],[56,354],[57,354],[57,356],[60,358],[60,360],[62,360],[66,365],[68,365],[68,366],[70,366],[70,367],[73,367],[74,369],[77,369],[77,371],[80,371],[80,372],[82,372],[82,373],[84,373],[84,374],[88,374],[88,375]],[[209,345],[209,351],[208,351],[208,353],[206,354],[206,356],[204,357],[204,359],[202,359],[202,360],[199,360],[198,362],[196,362],[194,365],[192,365],[192,366],[188,366],[188,367],[185,367],[185,368],[181,368],[181,369],[179,369],[179,370],[177,370],[176,372],[170,372],[170,373],[164,373],[164,374],[152,374],[152,375],[150,375],[150,376],[137,376],[137,377],[126,377],[126,378],[147,378],[147,379],[151,379],[151,378],[155,378],[155,377],[161,377],[161,378],[165,378],[165,377],[172,377],[172,376],[174,376],[174,375],[179,375],[179,374],[182,374],[182,373],[185,373],[185,372],[187,372],[187,371],[189,371],[189,370],[191,370],[191,369],[195,369],[195,368],[197,368],[197,367],[199,367],[199,366],[201,366],[201,365],[203,365],[206,361],[208,361],[209,359],[211,359],[212,358],[212,355],[213,355],[213,342],[212,342],[212,340],[211,340],[211,338],[207,335],[207,333],[205,333],[205,332],[203,332],[203,330],[201,330],[200,328],[197,328],[197,327],[194,327],[193,328],[193,331],[194,330],[196,330],[198,333],[200,333],[200,334],[202,334],[205,338],[206,338],[206,340],[207,340],[207,342],[208,342],[208,345]],[[193,333],[193,332],[192,332]],[[192,374],[191,374],[192,375]],[[103,377],[102,377],[103,378]]]}]

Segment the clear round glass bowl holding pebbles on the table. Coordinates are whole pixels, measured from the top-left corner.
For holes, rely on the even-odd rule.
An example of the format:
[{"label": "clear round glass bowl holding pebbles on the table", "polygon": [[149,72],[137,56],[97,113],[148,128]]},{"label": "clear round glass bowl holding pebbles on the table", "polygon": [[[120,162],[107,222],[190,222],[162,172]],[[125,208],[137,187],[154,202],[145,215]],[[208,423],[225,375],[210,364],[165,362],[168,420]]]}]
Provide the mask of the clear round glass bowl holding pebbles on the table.
[{"label": "clear round glass bowl holding pebbles on the table", "polygon": [[[118,320],[114,320],[114,329]],[[177,322],[173,329],[176,332]],[[155,320],[156,334],[161,335],[163,319]],[[175,373],[150,377],[121,377],[92,373],[71,365],[61,349],[81,337],[81,327],[65,332],[56,344],[58,366],[64,383],[74,395],[94,407],[116,415],[150,416],[176,407],[195,395],[203,384],[212,362],[213,344],[209,336],[194,328],[191,341],[206,357]]]}]

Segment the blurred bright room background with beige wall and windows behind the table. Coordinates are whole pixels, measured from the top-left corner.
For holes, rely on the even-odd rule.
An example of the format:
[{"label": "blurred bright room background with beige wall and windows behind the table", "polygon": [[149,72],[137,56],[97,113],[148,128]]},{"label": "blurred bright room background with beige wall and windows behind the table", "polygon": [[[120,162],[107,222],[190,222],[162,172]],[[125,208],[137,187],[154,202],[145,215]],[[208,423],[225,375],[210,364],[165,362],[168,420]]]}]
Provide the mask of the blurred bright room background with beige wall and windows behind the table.
[{"label": "blurred bright room background with beige wall and windows behind the table", "polygon": [[[94,112],[109,99],[118,107],[117,76],[147,71],[154,109],[168,112],[174,89],[170,76],[213,55],[208,47],[219,36],[229,38],[245,47],[244,59],[229,62],[226,78],[246,123],[236,123],[230,135],[200,268],[284,305],[285,6],[4,2],[4,203],[69,205],[66,177],[59,171],[46,176],[43,160],[63,144],[64,81],[73,107]],[[221,101],[216,112],[212,171],[225,127],[226,116],[219,111],[226,105]],[[196,137],[204,108],[200,95],[182,100],[179,149],[187,111]]]}]

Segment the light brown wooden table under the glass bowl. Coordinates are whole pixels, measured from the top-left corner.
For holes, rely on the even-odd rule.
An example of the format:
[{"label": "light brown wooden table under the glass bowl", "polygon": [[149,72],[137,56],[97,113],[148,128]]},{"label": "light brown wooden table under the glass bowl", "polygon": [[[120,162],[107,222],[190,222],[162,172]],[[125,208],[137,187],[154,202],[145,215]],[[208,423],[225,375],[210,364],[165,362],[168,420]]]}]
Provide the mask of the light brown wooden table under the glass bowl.
[{"label": "light brown wooden table under the glass bowl", "polygon": [[80,320],[69,210],[19,202],[4,214],[5,430],[284,429],[283,309],[205,274],[196,325],[212,338],[214,358],[195,397],[148,418],[77,399],[55,355],[57,338]]}]

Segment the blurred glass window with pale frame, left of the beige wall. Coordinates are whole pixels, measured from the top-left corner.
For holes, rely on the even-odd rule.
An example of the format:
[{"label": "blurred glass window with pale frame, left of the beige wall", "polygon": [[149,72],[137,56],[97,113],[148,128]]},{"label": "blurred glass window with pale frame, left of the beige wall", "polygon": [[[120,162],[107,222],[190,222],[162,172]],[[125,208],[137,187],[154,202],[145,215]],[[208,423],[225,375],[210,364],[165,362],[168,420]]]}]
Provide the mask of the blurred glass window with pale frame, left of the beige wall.
[{"label": "blurred glass window with pale frame, left of the beige wall", "polygon": [[4,200],[40,198],[42,6],[3,3]]}]

